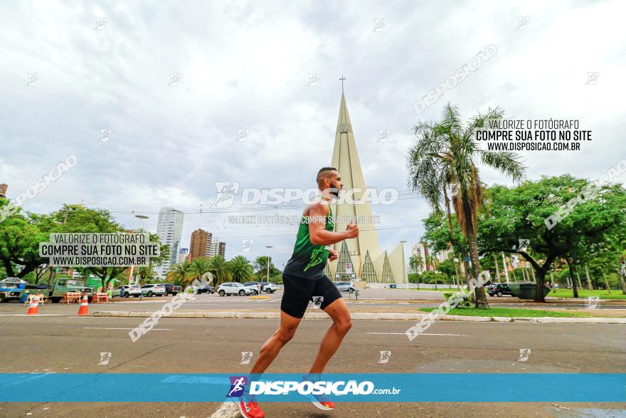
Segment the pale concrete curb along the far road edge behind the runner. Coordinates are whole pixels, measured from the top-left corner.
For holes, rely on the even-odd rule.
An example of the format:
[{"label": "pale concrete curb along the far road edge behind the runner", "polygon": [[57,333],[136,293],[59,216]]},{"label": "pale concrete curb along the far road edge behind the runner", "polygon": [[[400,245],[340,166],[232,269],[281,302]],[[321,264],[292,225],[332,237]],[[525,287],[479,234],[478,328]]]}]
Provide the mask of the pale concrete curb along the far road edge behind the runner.
[{"label": "pale concrete curb along the far road edge behind the runner", "polygon": [[[107,310],[93,313],[92,316],[121,317],[121,318],[148,318],[154,312],[124,312]],[[420,313],[353,313],[354,320],[421,320],[426,314]],[[208,318],[208,319],[280,319],[276,312],[172,312],[164,318]],[[307,312],[305,319],[327,319],[328,315],[322,312]],[[521,323],[578,323],[578,324],[624,324],[626,318],[507,318],[490,316],[460,316],[442,315],[438,319],[459,322],[521,322]]]}]

